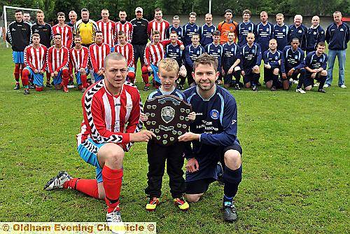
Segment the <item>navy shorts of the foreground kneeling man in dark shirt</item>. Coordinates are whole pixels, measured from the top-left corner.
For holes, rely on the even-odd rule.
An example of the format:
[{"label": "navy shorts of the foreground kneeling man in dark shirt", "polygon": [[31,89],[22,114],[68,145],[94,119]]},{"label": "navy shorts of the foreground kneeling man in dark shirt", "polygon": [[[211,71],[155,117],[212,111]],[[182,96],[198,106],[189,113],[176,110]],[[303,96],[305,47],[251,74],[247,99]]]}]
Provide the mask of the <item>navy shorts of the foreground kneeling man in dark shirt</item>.
[{"label": "navy shorts of the foreground kneeling man in dark shirt", "polygon": [[[234,150],[238,151],[242,155],[242,149],[241,149],[241,146],[239,144],[234,144],[232,146],[226,146],[226,147],[223,147],[223,149],[221,151],[220,158],[218,158],[216,163],[218,163],[220,161],[221,165],[223,165],[223,167],[225,167],[224,154],[225,154],[226,151],[228,151],[230,149],[234,149]],[[214,163],[215,163],[215,161],[214,161]],[[214,181],[216,181],[216,179],[211,178],[211,177],[203,178],[203,179],[197,179],[197,180],[194,180],[194,181],[186,181],[186,194],[204,193],[204,192],[206,192],[208,190],[209,184],[211,184]]]}]

